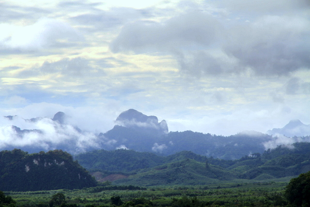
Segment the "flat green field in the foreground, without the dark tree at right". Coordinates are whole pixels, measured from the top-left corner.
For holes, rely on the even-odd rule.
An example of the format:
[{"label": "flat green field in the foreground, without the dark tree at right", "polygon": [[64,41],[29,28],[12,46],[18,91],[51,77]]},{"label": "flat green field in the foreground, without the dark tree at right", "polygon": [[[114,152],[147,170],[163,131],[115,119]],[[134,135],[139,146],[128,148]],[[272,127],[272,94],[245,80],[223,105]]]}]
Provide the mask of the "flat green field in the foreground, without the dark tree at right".
[{"label": "flat green field in the foreground, without the dark tree at right", "polygon": [[[284,197],[287,182],[225,183],[202,186],[170,186],[142,190],[81,190],[5,192],[20,207],[48,207],[55,195],[64,195],[62,206],[139,207],[246,207],[289,206]],[[57,197],[57,196],[56,196]],[[58,206],[54,205],[54,206]]]}]

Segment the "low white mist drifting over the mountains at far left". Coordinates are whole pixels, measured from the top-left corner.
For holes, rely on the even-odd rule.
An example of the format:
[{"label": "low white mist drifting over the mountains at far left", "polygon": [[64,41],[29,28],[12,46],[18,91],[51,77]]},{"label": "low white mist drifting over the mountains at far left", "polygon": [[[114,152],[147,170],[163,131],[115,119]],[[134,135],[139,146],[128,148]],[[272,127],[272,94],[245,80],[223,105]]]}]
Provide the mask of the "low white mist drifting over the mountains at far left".
[{"label": "low white mist drifting over the mountains at far left", "polygon": [[[0,148],[8,146],[16,148],[40,148],[52,150],[62,146],[64,150],[76,153],[83,152],[88,148],[99,148],[100,142],[92,133],[79,132],[72,125],[61,125],[49,118],[40,118],[36,121],[14,119],[13,123],[21,124],[27,129],[19,129],[12,125],[0,126]],[[12,123],[12,124],[13,124]],[[17,125],[18,126],[18,125]],[[65,146],[66,143],[70,143]]]}]

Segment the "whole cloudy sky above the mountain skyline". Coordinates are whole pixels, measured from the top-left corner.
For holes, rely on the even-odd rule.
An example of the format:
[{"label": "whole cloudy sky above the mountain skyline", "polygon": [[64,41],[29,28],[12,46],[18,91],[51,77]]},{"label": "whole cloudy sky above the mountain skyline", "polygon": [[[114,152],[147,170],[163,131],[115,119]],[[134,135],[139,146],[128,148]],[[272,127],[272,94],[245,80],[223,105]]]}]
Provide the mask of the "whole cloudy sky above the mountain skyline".
[{"label": "whole cloudy sky above the mountain skyline", "polygon": [[136,109],[229,136],[309,125],[309,106],[309,0],[0,1],[0,115],[21,129],[63,111],[106,132]]}]

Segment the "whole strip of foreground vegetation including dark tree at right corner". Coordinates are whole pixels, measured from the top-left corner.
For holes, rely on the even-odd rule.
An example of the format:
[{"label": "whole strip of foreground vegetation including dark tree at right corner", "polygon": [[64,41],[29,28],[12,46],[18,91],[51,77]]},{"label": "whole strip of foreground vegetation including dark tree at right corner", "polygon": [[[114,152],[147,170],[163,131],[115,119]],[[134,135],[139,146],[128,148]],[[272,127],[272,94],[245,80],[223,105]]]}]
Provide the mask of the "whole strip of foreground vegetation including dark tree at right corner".
[{"label": "whole strip of foreground vegetation including dark tree at right corner", "polygon": [[105,182],[82,190],[6,193],[10,195],[0,191],[0,207],[309,207],[310,172],[291,179],[288,185],[240,182],[140,188]]}]

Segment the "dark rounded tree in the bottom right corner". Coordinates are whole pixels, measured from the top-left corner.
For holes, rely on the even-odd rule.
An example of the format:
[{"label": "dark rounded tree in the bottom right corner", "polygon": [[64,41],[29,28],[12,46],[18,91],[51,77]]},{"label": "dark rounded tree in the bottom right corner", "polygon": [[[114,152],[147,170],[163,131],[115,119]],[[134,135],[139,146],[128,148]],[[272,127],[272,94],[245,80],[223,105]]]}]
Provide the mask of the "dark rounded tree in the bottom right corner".
[{"label": "dark rounded tree in the bottom right corner", "polygon": [[286,186],[286,199],[297,207],[310,207],[310,171],[291,179]]}]

